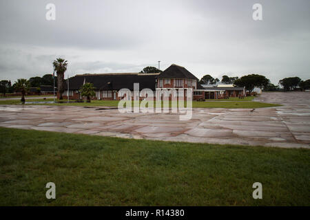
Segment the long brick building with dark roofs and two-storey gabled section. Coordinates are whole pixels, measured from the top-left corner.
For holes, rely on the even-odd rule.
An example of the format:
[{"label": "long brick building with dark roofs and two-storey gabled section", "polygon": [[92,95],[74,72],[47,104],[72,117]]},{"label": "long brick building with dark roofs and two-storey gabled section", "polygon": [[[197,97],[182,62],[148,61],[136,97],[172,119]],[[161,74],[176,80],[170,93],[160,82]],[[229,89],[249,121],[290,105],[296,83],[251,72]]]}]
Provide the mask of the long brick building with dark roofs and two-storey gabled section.
[{"label": "long brick building with dark roofs and two-storey gabled section", "polygon": [[[209,85],[200,85],[198,78],[189,72],[185,67],[172,64],[161,73],[141,74],[141,73],[115,73],[115,74],[80,74],[69,78],[65,83],[65,91],[63,98],[81,99],[81,86],[85,83],[92,83],[95,87],[95,100],[120,100],[123,97],[118,97],[120,89],[129,89],[134,91],[134,83],[139,83],[139,91],[142,89],[151,89],[156,93],[163,94],[164,91],[176,89],[176,91],[184,92],[185,89],[193,89],[194,100],[217,99],[227,97],[244,96],[245,90],[243,87],[226,87]],[[133,93],[132,93],[133,94]],[[59,94],[58,94],[59,96]],[[140,97],[144,99],[145,97]],[[171,94],[169,95],[169,100]]]}]

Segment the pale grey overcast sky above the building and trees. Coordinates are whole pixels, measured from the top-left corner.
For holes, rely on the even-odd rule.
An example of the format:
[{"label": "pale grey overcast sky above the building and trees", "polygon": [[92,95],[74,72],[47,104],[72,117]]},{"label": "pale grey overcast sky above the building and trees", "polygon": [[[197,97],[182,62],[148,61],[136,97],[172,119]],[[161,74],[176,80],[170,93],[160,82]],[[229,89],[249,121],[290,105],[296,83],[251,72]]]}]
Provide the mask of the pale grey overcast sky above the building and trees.
[{"label": "pale grey overcast sky above the building and trees", "polygon": [[[48,3],[56,20],[48,21]],[[254,3],[262,21],[254,21]],[[0,80],[181,65],[198,78],[310,78],[310,1],[0,1]],[[67,77],[66,74],[66,77]]]}]

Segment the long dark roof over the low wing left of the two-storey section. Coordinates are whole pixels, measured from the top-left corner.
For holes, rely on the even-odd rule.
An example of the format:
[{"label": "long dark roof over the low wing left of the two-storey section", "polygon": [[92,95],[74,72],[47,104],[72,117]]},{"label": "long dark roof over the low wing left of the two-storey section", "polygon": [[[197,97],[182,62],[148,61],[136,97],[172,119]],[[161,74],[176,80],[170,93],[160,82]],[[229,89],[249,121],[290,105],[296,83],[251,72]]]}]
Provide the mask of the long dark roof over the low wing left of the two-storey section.
[{"label": "long dark roof over the low wing left of the two-storey section", "polygon": [[[139,89],[155,90],[155,76],[158,74],[83,74],[69,78],[69,89],[79,90],[84,83],[92,83],[96,89],[100,90],[134,90],[134,83],[139,83]],[[67,89],[67,80],[65,89]]]}]

